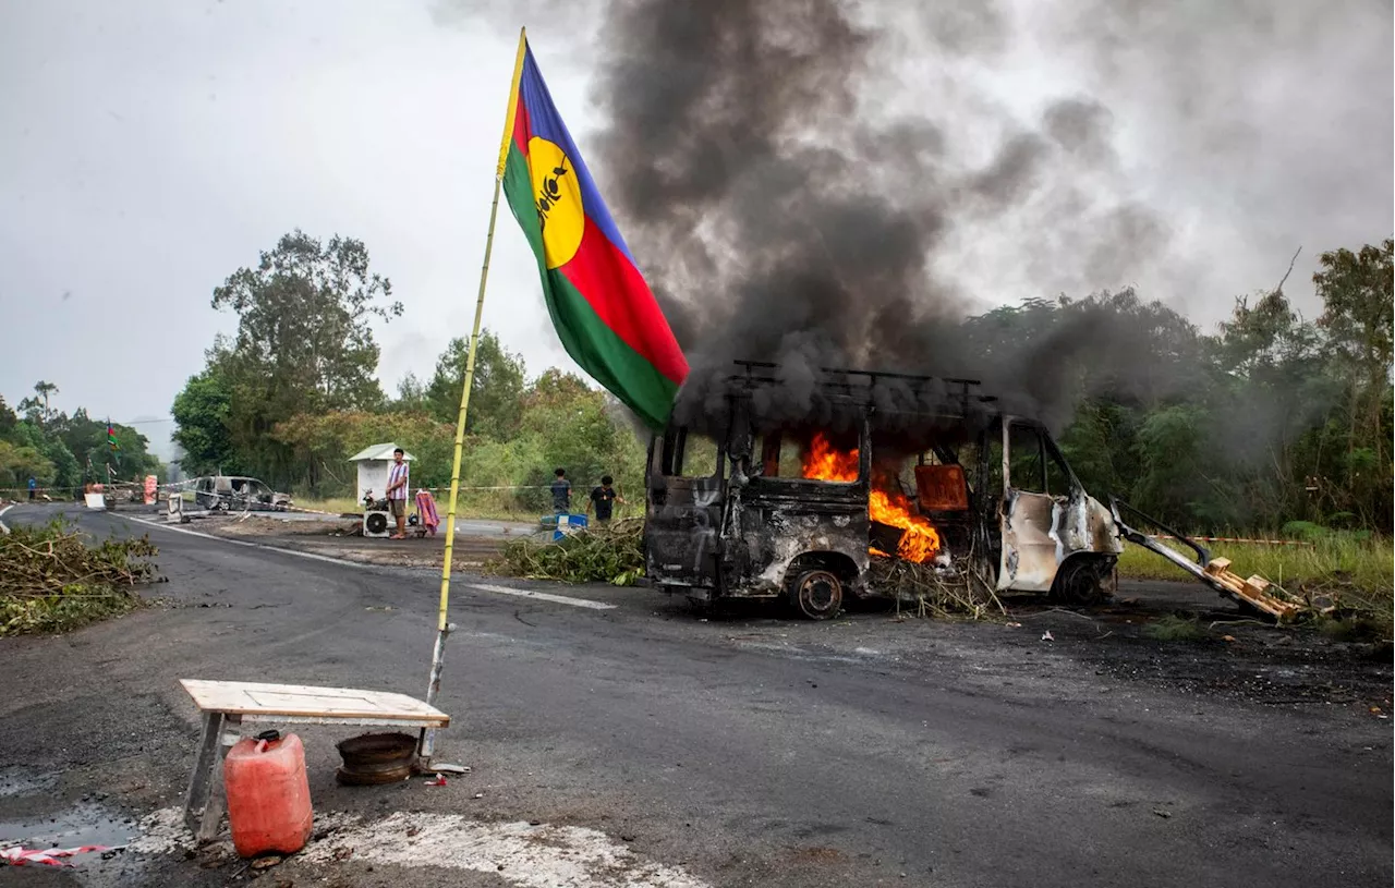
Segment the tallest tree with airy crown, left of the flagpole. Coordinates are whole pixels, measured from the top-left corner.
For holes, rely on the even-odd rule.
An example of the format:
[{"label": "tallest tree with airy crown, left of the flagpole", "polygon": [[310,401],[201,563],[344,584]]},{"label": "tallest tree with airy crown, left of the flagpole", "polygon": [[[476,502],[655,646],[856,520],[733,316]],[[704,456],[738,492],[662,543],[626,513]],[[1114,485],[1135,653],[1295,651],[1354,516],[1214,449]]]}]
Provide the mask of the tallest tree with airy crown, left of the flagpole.
[{"label": "tallest tree with airy crown, left of the flagpole", "polygon": [[236,337],[215,343],[209,362],[227,376],[227,428],[247,468],[292,471],[289,452],[269,438],[278,422],[382,407],[370,322],[402,314],[391,297],[361,241],[335,236],[322,244],[300,230],[213,290],[213,308],[239,316]]}]

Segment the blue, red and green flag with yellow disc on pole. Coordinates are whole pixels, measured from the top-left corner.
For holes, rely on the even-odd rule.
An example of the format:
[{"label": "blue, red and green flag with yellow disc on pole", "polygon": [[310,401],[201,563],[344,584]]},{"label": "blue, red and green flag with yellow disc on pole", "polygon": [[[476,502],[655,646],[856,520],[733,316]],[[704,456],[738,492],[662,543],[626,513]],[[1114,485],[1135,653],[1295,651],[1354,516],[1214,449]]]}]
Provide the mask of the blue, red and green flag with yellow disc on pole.
[{"label": "blue, red and green flag with yellow disc on pole", "polygon": [[499,177],[537,257],[566,353],[646,424],[663,428],[688,360],[552,105],[526,35],[519,36]]}]

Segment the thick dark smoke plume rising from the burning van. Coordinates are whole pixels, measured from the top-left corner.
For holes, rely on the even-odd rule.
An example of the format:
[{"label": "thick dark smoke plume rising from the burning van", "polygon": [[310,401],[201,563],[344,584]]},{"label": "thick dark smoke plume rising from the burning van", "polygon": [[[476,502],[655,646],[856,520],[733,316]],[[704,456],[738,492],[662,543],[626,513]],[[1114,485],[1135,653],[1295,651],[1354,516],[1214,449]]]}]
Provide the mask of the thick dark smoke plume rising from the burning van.
[{"label": "thick dark smoke plume rising from the burning van", "polygon": [[[1030,226],[1024,209],[1050,217],[1024,231],[1038,241],[1098,227],[1088,254],[1055,261],[1081,277],[1102,269],[1101,286],[1166,247],[1166,226],[1148,210],[1102,206],[1089,192],[1088,173],[1117,163],[1098,102],[1064,98],[1038,130],[996,121],[997,144],[976,164],[964,160],[970,139],[954,114],[897,107],[914,71],[897,53],[999,52],[992,6],[883,4],[880,17],[838,0],[605,8],[598,160],[692,362],[685,420],[721,410],[734,360],[781,365],[780,397],[764,404],[771,418],[817,421],[827,406],[812,376],[824,367],[982,378],[1027,408],[1059,413],[1055,401],[1073,395],[1025,386],[1020,371],[1102,332],[1053,342],[1050,357],[985,365],[957,326],[992,294],[965,291],[939,259],[964,230]],[[939,388],[879,397],[929,403]]]}]

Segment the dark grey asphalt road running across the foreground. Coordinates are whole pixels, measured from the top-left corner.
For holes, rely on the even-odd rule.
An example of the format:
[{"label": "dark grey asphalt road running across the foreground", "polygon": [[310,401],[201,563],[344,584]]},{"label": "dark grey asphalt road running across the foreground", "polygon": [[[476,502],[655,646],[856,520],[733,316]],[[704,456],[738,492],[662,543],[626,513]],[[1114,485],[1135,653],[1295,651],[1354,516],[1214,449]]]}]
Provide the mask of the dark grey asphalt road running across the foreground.
[{"label": "dark grey asphalt road running across the foreground", "polygon": [[[169,584],[151,592],[159,606],[71,636],[0,638],[0,821],[84,799],[137,820],[177,804],[197,739],[181,678],[424,690],[432,572],[61,510],[99,535],[149,533]],[[453,725],[438,758],[472,774],[339,788],[346,733],[310,728],[317,816],[587,827],[709,885],[1395,884],[1395,722],[1364,704],[1130,680],[1085,652],[1101,634],[1074,615],[1023,627],[886,613],[699,622],[646,590],[508,584],[614,605],[596,609],[484,588],[499,584],[455,587],[439,700]],[[1043,626],[1055,641],[1038,640]],[[1189,654],[1175,657],[1186,672]],[[6,775],[45,789],[7,793]],[[237,884],[232,864],[199,863],[170,855],[106,878]],[[545,884],[416,863],[279,871],[294,884]],[[49,880],[100,881],[0,867],[0,884]]]}]

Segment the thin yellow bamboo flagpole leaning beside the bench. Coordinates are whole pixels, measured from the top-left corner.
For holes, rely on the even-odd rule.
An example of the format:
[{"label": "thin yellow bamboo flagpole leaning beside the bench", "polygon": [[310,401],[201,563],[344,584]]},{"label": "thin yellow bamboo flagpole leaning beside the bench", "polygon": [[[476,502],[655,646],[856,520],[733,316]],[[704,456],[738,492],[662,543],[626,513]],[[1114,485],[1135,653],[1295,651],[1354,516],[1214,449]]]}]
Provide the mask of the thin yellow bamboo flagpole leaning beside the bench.
[{"label": "thin yellow bamboo flagpole leaning beside the bench", "polygon": [[[499,148],[499,166],[494,176],[494,202],[490,206],[490,229],[484,237],[484,265],[480,268],[480,293],[474,301],[474,328],[470,330],[470,350],[465,360],[465,385],[460,388],[460,413],[455,420],[455,457],[451,463],[451,500],[445,512],[445,555],[441,563],[441,606],[437,620],[435,648],[431,652],[431,679],[427,684],[427,704],[434,705],[441,693],[441,669],[445,665],[445,640],[451,634],[446,620],[451,605],[451,567],[455,552],[455,506],[460,495],[460,454],[465,450],[465,418],[470,410],[470,389],[474,386],[474,355],[480,346],[480,319],[484,315],[484,289],[490,277],[490,255],[494,252],[494,223],[499,215],[499,190],[504,185],[504,164],[508,160],[509,139],[513,137],[513,118],[519,100],[519,79],[523,74],[523,57],[527,52],[527,29],[519,29],[519,50],[513,60],[513,79],[509,85],[509,109],[504,121],[504,144]],[[435,729],[421,732],[417,758],[430,767],[435,751]]]}]

